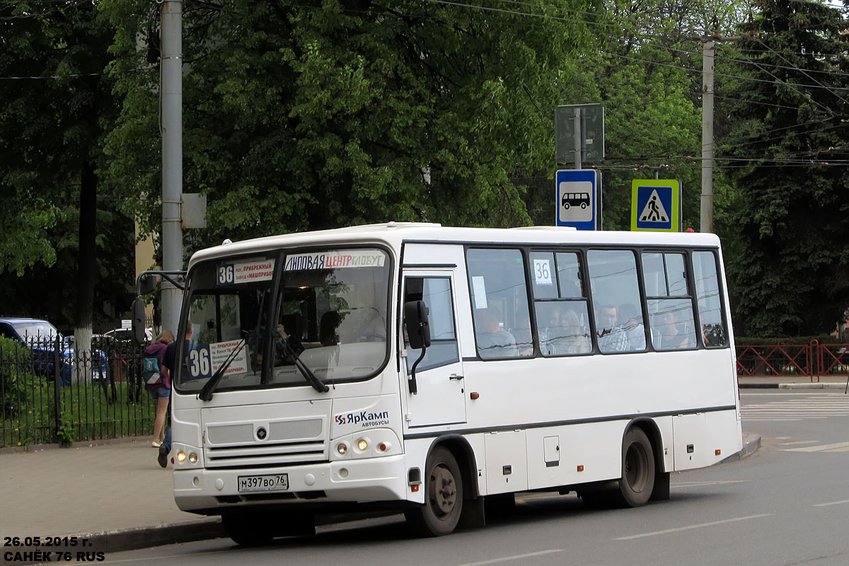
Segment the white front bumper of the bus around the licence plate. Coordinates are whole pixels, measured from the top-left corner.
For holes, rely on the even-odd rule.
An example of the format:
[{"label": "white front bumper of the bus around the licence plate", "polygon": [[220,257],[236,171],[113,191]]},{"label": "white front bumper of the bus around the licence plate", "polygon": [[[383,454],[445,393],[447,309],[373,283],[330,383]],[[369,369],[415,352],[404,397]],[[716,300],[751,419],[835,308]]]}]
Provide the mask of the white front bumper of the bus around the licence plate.
[{"label": "white front bumper of the bus around the licence plate", "polygon": [[[282,474],[286,489],[247,491],[243,481],[239,491],[239,478],[263,476],[275,480],[279,488]],[[183,511],[205,514],[269,504],[332,507],[346,502],[402,502],[408,499],[406,475],[403,455],[278,468],[176,469],[174,499]]]}]

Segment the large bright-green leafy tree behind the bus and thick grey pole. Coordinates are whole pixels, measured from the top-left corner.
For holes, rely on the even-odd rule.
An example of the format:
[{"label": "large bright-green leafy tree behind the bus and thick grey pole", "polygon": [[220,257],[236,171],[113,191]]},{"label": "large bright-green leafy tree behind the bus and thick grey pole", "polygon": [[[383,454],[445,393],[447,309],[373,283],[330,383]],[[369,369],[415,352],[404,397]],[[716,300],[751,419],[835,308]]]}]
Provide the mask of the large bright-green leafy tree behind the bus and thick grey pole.
[{"label": "large bright-green leafy tree behind the bus and thick grey pole", "polygon": [[[599,6],[472,4],[187,3],[183,190],[210,202],[187,248],[372,221],[526,224],[516,173],[551,164],[559,85]],[[158,73],[136,44],[149,4],[106,5],[126,97],[110,183],[155,228]]]}]

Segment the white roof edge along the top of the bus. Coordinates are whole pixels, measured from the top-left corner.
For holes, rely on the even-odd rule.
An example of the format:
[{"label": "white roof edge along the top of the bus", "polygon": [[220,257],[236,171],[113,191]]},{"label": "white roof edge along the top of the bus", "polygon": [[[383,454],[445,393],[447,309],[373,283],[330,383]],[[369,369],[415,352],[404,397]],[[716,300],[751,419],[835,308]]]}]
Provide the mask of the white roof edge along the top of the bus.
[{"label": "white roof edge along the top of the bus", "polygon": [[646,244],[719,247],[712,233],[662,233],[578,231],[572,227],[535,226],[515,228],[444,227],[426,222],[384,222],[254,238],[201,249],[192,255],[189,266],[198,261],[229,255],[249,254],[307,245],[387,244],[400,249],[402,242],[458,244]]}]

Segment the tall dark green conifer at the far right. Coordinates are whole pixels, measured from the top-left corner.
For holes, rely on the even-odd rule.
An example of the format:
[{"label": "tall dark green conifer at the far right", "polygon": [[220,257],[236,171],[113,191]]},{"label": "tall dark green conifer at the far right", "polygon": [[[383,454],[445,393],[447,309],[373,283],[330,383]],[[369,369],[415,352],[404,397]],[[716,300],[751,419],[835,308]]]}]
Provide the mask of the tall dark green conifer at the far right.
[{"label": "tall dark green conifer at the far right", "polygon": [[739,333],[821,333],[849,305],[846,20],[812,2],[768,0],[722,81],[722,139],[735,192],[724,230]]}]

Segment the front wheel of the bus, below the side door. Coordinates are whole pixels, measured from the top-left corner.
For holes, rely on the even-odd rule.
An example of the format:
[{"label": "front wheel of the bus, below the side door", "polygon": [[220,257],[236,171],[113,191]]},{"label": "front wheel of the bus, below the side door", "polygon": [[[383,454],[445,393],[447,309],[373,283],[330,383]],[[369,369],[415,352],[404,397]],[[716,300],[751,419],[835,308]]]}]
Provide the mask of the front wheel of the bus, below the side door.
[{"label": "front wheel of the bus, below the side door", "polygon": [[424,474],[424,505],[408,509],[407,522],[416,535],[450,535],[463,512],[463,478],[457,459],[446,448],[430,453]]}]

